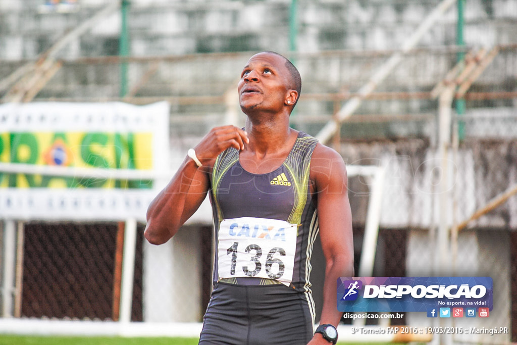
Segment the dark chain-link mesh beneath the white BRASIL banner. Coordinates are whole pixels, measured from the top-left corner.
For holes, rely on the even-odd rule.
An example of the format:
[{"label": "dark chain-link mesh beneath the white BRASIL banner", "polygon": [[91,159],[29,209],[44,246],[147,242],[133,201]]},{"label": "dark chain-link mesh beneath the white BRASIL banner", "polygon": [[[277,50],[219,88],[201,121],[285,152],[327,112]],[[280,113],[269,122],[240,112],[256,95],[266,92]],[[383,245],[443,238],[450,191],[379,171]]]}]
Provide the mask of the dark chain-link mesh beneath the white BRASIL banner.
[{"label": "dark chain-link mesh beneath the white BRASIL banner", "polygon": [[[25,223],[18,317],[118,320],[117,229],[116,223]],[[139,233],[132,321],[143,320],[142,227]]]}]

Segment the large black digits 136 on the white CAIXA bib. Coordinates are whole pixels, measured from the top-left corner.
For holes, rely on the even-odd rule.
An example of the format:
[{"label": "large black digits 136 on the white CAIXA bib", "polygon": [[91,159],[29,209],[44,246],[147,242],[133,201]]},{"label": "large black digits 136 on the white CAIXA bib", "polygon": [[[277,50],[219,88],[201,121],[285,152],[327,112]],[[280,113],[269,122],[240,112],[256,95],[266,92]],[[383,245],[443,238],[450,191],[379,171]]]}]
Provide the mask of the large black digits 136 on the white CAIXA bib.
[{"label": "large black digits 136 on the white CAIXA bib", "polygon": [[[234,242],[234,244],[226,249],[226,255],[232,256],[232,264],[230,266],[230,275],[235,275],[235,268],[237,266],[237,247],[239,246],[238,242]],[[224,247],[223,247],[224,248]],[[259,274],[262,270],[262,248],[256,244],[250,244],[246,247],[244,250],[246,253],[249,253],[251,255],[251,258],[249,259],[251,261],[250,265],[248,266],[242,266],[242,272],[244,272],[245,275],[248,277],[254,277],[257,274]],[[285,271],[285,265],[279,258],[273,258],[275,254],[277,254],[281,257],[285,257],[285,250],[280,247],[274,247],[269,250],[266,257],[265,267],[266,274],[271,279],[279,279],[283,276]],[[262,259],[262,261],[261,261]],[[239,258],[239,260],[242,260],[242,258]],[[254,266],[252,265],[254,264]],[[254,268],[252,270],[252,268]]]}]

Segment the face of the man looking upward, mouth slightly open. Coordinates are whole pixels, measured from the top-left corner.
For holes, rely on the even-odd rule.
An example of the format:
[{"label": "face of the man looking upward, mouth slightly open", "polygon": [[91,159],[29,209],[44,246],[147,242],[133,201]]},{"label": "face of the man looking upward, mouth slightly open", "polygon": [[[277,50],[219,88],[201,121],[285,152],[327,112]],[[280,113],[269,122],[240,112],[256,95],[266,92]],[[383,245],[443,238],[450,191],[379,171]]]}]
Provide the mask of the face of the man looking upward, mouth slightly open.
[{"label": "face of the man looking upward, mouth slightly open", "polygon": [[278,112],[289,96],[288,70],[282,56],[271,53],[253,55],[242,69],[238,85],[240,108]]}]

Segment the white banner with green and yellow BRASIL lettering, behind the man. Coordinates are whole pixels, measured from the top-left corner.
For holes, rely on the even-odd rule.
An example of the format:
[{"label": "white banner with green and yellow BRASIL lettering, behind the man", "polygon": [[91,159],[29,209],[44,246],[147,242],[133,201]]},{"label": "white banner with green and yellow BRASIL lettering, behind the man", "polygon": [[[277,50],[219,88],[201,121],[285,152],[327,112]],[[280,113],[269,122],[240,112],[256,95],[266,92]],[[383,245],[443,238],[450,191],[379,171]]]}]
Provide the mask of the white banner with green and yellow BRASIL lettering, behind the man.
[{"label": "white banner with green and yellow BRASIL lettering, behind the man", "polygon": [[166,102],[2,104],[0,217],[143,220],[168,148]]}]

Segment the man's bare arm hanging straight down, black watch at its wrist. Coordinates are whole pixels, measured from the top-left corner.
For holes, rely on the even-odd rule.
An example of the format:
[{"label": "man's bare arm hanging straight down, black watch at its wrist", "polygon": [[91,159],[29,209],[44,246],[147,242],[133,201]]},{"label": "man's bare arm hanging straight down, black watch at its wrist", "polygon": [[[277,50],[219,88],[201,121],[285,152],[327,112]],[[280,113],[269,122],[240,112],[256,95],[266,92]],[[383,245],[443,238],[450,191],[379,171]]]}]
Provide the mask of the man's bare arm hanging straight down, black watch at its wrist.
[{"label": "man's bare arm hanging straight down, black watch at its wrist", "polygon": [[[310,174],[326,262],[320,324],[329,323],[337,327],[343,314],[337,308],[337,280],[339,277],[354,276],[354,240],[352,211],[348,200],[348,177],[343,158],[322,144],[314,149]],[[310,344],[320,343],[328,344],[321,334],[316,333]]]}]

